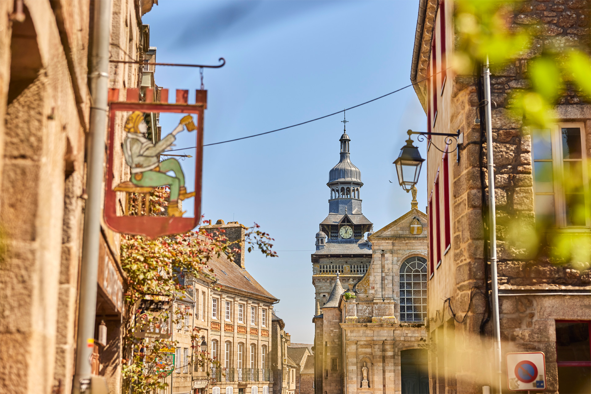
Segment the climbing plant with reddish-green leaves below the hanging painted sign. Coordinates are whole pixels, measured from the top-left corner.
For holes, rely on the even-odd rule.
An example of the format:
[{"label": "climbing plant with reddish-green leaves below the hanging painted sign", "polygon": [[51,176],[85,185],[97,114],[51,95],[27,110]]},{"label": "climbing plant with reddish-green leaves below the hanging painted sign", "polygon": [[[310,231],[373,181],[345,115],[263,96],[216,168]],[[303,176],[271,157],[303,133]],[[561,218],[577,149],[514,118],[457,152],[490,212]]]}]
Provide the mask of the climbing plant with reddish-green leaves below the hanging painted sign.
[{"label": "climbing plant with reddish-green leaves below the hanging painted sign", "polygon": [[[167,200],[168,189],[157,188],[156,193],[150,196],[151,214],[165,212]],[[134,198],[130,211],[137,210],[138,198]],[[193,288],[191,281],[185,280],[185,275],[204,279],[219,290],[220,286],[215,285],[215,272],[207,265],[208,262],[220,257],[233,261],[236,253],[242,252],[236,248],[238,244],[229,242],[224,233],[223,229],[213,232],[199,229],[154,240],[122,235],[121,265],[126,281],[122,360],[124,392],[148,394],[167,388],[164,378],[170,375],[171,367],[162,362],[165,356],[161,350],[178,344],[176,340],[137,338],[135,331],[145,324],[168,324],[174,330],[177,323],[183,324],[184,318],[191,314],[190,308],[176,308],[173,315],[165,313],[161,314],[165,317],[160,318],[152,312],[142,311],[138,307],[141,300],[147,295],[191,298]],[[273,239],[256,223],[246,230],[245,249],[248,252],[259,249],[265,256],[276,257],[271,241]],[[219,362],[211,359],[209,353],[201,351],[200,335],[198,328],[191,328],[191,347],[194,351],[189,370],[204,366],[209,376],[209,366],[219,366]]]}]

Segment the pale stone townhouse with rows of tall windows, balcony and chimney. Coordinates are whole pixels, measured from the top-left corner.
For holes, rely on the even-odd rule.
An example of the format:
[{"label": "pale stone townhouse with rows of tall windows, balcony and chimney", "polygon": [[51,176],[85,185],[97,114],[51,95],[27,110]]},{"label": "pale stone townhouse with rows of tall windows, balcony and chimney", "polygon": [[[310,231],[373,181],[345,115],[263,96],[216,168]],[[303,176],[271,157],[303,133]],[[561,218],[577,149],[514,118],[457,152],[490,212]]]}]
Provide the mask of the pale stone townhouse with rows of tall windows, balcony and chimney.
[{"label": "pale stone townhouse with rows of tall windows, balcony and chimney", "polygon": [[[216,224],[201,228],[211,233],[224,230],[229,242],[241,245],[241,252],[233,262],[225,256],[211,259],[208,266],[215,276],[200,275],[194,279],[193,299],[200,317],[194,319],[193,327],[205,338],[210,356],[220,362],[220,367],[210,367],[209,382],[204,368],[194,366],[194,392],[275,392],[273,370],[278,344],[272,337],[276,325],[273,304],[279,299],[246,271],[243,249],[246,227],[243,224],[217,220]],[[195,311],[197,315],[197,309]]]}]

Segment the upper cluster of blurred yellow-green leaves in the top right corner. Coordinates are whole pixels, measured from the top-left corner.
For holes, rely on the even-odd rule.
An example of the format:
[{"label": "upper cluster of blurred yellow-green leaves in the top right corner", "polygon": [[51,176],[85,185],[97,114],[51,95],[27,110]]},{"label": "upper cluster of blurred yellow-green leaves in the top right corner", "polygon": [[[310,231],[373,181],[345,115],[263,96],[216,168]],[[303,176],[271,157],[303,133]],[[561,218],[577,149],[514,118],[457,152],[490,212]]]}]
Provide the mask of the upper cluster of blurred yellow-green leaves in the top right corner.
[{"label": "upper cluster of blurred yellow-green leaves in the top right corner", "polygon": [[[506,0],[462,0],[454,2],[457,33],[453,67],[471,74],[477,64],[515,63],[527,59],[530,87],[514,89],[511,109],[523,116],[524,124],[546,127],[551,108],[562,93],[573,86],[580,96],[591,97],[591,58],[588,48],[564,46],[560,36],[547,36],[544,22],[515,24],[515,15],[526,2]],[[543,45],[543,46],[542,46]]]}]

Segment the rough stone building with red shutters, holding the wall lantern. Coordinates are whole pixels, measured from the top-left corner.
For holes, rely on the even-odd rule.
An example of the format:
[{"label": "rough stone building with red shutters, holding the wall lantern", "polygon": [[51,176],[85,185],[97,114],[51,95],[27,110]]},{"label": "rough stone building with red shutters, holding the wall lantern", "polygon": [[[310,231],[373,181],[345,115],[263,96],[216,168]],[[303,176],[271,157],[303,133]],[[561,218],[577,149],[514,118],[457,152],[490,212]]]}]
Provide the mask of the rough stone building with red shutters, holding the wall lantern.
[{"label": "rough stone building with red shutters, holding the wall lantern", "polygon": [[[445,146],[442,136],[431,137],[426,162],[431,229],[427,327],[432,393],[482,392],[482,386],[494,387],[498,381],[492,372],[489,235],[483,221],[488,212],[487,141],[483,137],[484,121],[476,120],[483,119],[479,110],[483,90],[478,76],[446,70],[454,61],[454,4],[449,0],[420,1],[411,65],[411,80],[427,114],[427,130],[463,133],[459,162],[455,153],[441,154],[432,148]],[[545,392],[591,390],[588,257],[553,263],[544,252],[528,255],[523,243],[532,240],[531,232],[512,233],[520,228],[519,223],[527,223],[522,227],[525,229],[548,220],[552,229],[543,233],[540,243],[546,237],[570,233],[578,237],[580,245],[589,245],[587,163],[591,154],[591,106],[576,90],[567,89],[550,114],[553,125],[545,130],[525,127],[508,111],[509,93],[528,86],[528,64],[541,51],[552,45],[565,49],[577,45],[590,52],[590,11],[589,1],[515,2],[512,28],[534,25],[539,35],[534,37],[530,51],[491,70],[494,105],[490,142],[495,161],[504,386],[506,353],[543,351]],[[581,190],[578,200],[572,200],[560,182],[564,168],[571,165],[580,165],[582,171],[577,180]],[[544,179],[543,166],[551,167],[554,178]],[[576,176],[576,172],[572,174]],[[571,202],[586,207],[577,220],[569,216]],[[534,239],[534,246],[537,244]],[[579,352],[580,357],[576,356]]]}]

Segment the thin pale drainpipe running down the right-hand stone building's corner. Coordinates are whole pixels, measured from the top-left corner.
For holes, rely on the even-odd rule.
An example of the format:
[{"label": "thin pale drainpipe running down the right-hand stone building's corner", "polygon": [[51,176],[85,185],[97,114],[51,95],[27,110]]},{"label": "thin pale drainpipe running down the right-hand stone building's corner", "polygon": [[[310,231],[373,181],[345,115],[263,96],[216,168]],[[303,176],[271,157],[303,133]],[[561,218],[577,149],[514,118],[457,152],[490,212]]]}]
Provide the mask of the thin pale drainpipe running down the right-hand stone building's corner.
[{"label": "thin pale drainpipe running down the right-hand stone building's corner", "polygon": [[491,285],[492,285],[492,323],[493,342],[495,351],[495,365],[493,370],[493,386],[498,387],[498,393],[502,392],[501,386],[501,327],[499,325],[499,284],[496,272],[496,210],[495,210],[495,164],[492,154],[492,116],[491,116],[491,69],[486,56],[484,66],[484,95],[486,100],[486,163],[488,167],[488,213],[490,223],[490,250],[491,250]]}]

